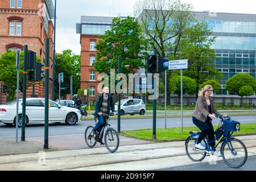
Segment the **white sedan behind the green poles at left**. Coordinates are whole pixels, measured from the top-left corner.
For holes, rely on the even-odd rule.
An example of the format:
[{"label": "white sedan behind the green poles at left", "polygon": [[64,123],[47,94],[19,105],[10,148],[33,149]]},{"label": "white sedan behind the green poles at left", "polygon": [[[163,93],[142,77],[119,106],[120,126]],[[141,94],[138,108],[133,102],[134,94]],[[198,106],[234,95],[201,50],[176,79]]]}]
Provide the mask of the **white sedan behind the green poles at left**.
[{"label": "white sedan behind the green poles at left", "polygon": [[[44,98],[26,99],[26,124],[44,122]],[[49,123],[65,122],[67,125],[75,125],[81,121],[81,113],[78,109],[65,107],[49,100]],[[5,125],[16,123],[16,101],[0,105],[0,122]],[[22,99],[19,99],[18,126],[22,125]]]}]

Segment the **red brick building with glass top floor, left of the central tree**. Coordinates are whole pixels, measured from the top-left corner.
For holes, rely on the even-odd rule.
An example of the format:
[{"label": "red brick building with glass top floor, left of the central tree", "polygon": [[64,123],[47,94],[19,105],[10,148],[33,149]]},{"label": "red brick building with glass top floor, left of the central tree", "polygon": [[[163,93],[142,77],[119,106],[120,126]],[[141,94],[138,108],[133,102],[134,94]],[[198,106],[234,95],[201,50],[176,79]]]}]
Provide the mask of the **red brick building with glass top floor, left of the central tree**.
[{"label": "red brick building with glass top floor, left of the central tree", "polygon": [[80,34],[81,44],[81,81],[80,88],[89,88],[90,101],[95,101],[99,92],[97,89],[98,72],[93,63],[96,61],[96,44],[98,35],[103,35],[110,29],[113,17],[81,16],[81,23],[76,24],[76,32]]}]

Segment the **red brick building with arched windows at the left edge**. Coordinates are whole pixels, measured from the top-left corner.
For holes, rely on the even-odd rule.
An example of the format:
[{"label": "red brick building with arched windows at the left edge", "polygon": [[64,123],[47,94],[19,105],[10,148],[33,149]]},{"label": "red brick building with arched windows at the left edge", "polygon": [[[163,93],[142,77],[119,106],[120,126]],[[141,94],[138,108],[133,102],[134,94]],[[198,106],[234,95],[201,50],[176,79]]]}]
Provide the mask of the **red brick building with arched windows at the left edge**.
[{"label": "red brick building with arched windows at the left edge", "polygon": [[[52,55],[54,7],[52,0],[1,0],[0,1],[0,55],[6,51],[28,50],[36,52],[42,63],[46,59],[45,40],[49,38],[49,98],[52,88]],[[30,97],[32,88],[27,89]],[[44,97],[44,80],[35,85],[36,97]],[[4,97],[4,96],[3,96]]]}]

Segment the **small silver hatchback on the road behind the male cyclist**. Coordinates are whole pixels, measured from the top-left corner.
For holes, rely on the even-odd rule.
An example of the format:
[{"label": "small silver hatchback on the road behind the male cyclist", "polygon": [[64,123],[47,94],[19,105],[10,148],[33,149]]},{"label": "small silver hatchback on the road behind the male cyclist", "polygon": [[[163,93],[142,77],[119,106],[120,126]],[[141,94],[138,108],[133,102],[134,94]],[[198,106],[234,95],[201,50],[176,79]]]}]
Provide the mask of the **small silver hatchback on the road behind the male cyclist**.
[{"label": "small silver hatchback on the road behind the male cyclist", "polygon": [[[115,105],[115,110],[118,109],[118,105]],[[127,98],[121,100],[120,114],[140,114],[144,115],[146,112],[146,105],[143,100],[139,98]]]}]

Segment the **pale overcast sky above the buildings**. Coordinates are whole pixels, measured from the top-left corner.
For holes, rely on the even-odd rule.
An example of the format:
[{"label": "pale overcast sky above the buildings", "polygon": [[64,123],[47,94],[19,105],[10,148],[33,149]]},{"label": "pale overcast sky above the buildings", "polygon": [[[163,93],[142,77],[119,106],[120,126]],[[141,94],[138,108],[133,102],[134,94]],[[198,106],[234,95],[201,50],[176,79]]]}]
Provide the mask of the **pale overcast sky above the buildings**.
[{"label": "pale overcast sky above the buildings", "polygon": [[[54,3],[55,0],[53,0]],[[59,0],[56,11],[56,52],[72,49],[80,55],[80,34],[76,34],[76,23],[81,16],[118,16],[133,14],[137,0]],[[183,0],[191,3],[194,11],[256,14],[255,0]]]}]

